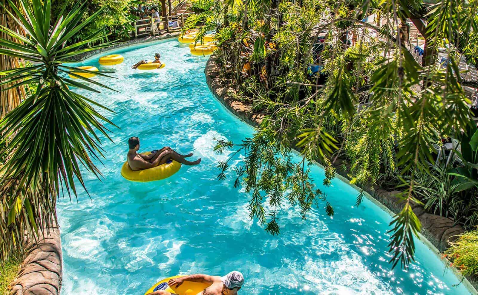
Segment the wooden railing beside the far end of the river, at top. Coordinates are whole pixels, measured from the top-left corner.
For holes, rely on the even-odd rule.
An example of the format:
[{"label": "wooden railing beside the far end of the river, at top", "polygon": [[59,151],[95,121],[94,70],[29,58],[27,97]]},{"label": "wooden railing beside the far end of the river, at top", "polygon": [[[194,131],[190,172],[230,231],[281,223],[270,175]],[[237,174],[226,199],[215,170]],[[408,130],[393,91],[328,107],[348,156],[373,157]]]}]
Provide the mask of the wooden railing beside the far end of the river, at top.
[{"label": "wooden railing beside the far end of the river, at top", "polygon": [[[169,25],[170,20],[177,21],[177,27],[174,27],[174,29],[181,29],[184,26],[184,21],[188,17],[189,14],[192,12],[186,12],[186,13],[179,13],[179,14],[174,14],[174,15],[167,15],[165,17],[161,17],[160,21],[154,20],[152,17],[149,17],[147,19],[142,19],[142,20],[136,20],[134,22],[134,38],[138,38],[144,35],[152,35],[155,36],[157,33],[160,31],[167,31],[170,32],[173,30]],[[163,29],[159,29],[159,24],[163,24]]]}]

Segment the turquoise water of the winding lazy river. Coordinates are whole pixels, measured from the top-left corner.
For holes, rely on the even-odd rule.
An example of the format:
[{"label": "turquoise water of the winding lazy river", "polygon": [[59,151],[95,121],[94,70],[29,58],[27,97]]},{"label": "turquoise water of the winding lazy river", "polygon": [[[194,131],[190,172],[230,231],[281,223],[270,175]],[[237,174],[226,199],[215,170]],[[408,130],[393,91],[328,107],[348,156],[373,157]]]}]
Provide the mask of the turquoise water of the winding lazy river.
[{"label": "turquoise water of the winding lazy river", "polygon": [[[354,207],[357,192],[338,179],[321,187],[318,167],[313,176],[328,194],[334,217],[318,209],[303,221],[284,205],[281,234],[267,234],[249,219],[250,196],[233,188],[234,172],[229,181],[216,180],[217,161],[227,153],[213,152],[213,138],[239,142],[252,129],[209,92],[207,58],[191,56],[177,41],[144,46],[112,51],[125,58],[115,67],[99,66],[99,56],[82,63],[116,70],[118,79],[94,79],[120,93],[88,96],[116,112],[107,115],[120,129],[113,130],[114,143],[103,142],[106,159],[99,168],[105,178],[84,174],[91,199],[80,193],[78,202],[65,198],[58,204],[63,294],[142,295],[164,277],[232,270],[245,276],[242,295],[468,294],[464,285],[452,286],[459,280],[422,243],[408,271],[391,270],[390,215],[369,200]],[[164,69],[130,69],[154,52],[161,53]],[[120,167],[130,136],[140,137],[143,151],[171,146],[203,161],[163,181],[125,181]]]}]

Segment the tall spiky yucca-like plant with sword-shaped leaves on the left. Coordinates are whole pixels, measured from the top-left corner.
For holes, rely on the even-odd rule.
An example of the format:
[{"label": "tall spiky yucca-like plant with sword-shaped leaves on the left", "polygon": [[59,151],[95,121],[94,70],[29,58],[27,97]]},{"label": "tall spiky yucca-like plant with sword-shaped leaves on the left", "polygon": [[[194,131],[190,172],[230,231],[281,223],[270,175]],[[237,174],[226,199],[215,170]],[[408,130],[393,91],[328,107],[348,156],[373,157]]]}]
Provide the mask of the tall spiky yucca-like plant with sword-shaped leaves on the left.
[{"label": "tall spiky yucca-like plant with sword-shaped leaves on the left", "polygon": [[[8,0],[3,6],[8,5],[5,11],[10,19],[28,37],[1,26],[0,31],[14,41],[0,38],[0,54],[24,58],[32,64],[1,71],[0,85],[13,89],[31,84],[35,91],[0,121],[0,143],[9,139],[0,151],[0,157],[6,159],[0,179],[1,261],[6,261],[13,248],[22,248],[25,233],[36,238],[56,223],[56,197],[62,193],[76,195],[75,181],[85,187],[80,166],[100,174],[91,157],[102,155],[97,133],[109,138],[104,123],[112,123],[97,111],[105,109],[103,106],[74,89],[98,92],[93,85],[107,86],[78,75],[88,71],[72,68],[67,62],[112,42],[82,49],[106,37],[97,31],[83,41],[65,45],[101,14],[100,9],[81,21],[86,3],[78,2],[68,10],[64,5],[53,26],[51,0],[18,0],[17,4]],[[68,78],[67,73],[80,80]]]}]

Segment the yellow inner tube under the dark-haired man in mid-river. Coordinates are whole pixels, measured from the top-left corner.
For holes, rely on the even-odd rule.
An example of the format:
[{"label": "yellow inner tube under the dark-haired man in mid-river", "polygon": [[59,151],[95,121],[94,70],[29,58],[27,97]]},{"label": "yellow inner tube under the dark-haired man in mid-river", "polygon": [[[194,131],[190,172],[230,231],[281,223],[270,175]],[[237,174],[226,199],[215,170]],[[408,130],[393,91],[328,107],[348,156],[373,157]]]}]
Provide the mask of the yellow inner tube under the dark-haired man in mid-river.
[{"label": "yellow inner tube under the dark-haired man in mid-river", "polygon": [[[142,155],[149,155],[151,152],[141,153]],[[145,170],[133,171],[126,161],[121,167],[121,175],[130,181],[137,182],[148,182],[161,180],[172,176],[174,173],[179,171],[181,168],[181,163],[173,161],[171,163],[166,163],[156,167],[152,167]],[[195,294],[196,295],[196,294]]]}]

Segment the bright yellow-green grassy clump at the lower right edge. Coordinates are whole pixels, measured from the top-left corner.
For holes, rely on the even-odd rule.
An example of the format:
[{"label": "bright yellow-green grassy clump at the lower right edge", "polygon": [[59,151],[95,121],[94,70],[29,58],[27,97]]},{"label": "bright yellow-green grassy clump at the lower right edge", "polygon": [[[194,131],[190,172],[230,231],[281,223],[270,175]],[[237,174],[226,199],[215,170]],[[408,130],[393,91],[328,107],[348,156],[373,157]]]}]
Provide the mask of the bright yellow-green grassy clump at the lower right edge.
[{"label": "bright yellow-green grassy clump at the lower right edge", "polygon": [[445,256],[463,275],[478,277],[478,230],[461,234],[445,251]]}]

